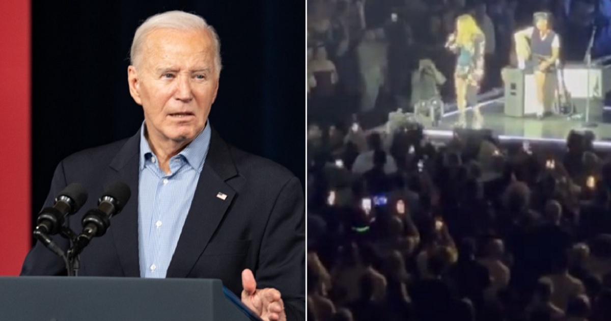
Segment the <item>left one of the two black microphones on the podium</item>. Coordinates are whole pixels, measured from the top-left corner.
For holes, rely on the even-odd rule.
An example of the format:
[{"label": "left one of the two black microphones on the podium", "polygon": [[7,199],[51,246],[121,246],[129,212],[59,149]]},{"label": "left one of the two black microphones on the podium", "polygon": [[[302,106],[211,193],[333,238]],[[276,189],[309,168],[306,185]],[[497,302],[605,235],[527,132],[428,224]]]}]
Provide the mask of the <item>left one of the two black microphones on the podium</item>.
[{"label": "left one of the two black microphones on the podium", "polygon": [[87,190],[79,184],[72,183],[59,192],[53,207],[45,207],[38,213],[34,231],[46,235],[60,232],[66,215],[73,215],[87,201]]}]

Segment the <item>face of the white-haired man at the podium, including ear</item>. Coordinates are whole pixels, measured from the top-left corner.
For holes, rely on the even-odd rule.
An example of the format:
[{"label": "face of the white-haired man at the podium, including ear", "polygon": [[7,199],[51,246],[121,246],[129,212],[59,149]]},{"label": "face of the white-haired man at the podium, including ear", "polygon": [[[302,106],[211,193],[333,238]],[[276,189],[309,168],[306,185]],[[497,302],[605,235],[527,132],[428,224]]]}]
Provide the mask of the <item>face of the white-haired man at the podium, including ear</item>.
[{"label": "face of the white-haired man at the podium, including ear", "polygon": [[128,81],[149,139],[188,143],[203,130],[219,87],[215,55],[208,31],[158,29],[146,36]]}]

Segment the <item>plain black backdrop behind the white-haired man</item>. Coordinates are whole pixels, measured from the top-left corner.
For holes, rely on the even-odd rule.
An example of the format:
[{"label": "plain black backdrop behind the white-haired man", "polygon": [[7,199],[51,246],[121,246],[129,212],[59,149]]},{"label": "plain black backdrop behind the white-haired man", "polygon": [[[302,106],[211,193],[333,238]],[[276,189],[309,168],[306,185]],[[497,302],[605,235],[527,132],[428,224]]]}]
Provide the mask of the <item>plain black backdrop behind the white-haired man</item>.
[{"label": "plain black backdrop behind the white-haired man", "polygon": [[[210,121],[225,141],[305,182],[305,2],[32,1],[32,213],[71,153],[132,136],[144,120],[127,84],[136,28],[155,13],[202,16],[224,69]],[[96,196],[97,197],[97,196]]]}]

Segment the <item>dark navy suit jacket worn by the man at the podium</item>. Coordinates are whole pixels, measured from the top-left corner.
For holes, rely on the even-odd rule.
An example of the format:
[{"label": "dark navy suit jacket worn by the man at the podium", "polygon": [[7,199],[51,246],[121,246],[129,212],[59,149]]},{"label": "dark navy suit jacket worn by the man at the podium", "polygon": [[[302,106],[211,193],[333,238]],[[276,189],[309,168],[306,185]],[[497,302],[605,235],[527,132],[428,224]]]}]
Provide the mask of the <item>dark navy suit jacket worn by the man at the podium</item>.
[{"label": "dark navy suit jacket worn by the man at the podium", "polygon": [[[121,181],[131,199],[111,218],[103,237],[81,254],[79,276],[139,277],[138,175],[140,133],[75,153],[57,166],[45,206],[70,183],[81,183],[89,200],[68,218],[97,207],[106,184]],[[227,195],[225,200],[218,193]],[[299,180],[287,169],[226,144],[213,129],[210,150],[167,270],[167,278],[218,278],[236,295],[241,271],[250,268],[257,287],[282,293],[288,320],[305,320],[305,215]],[[68,243],[54,240],[67,250]],[[66,275],[62,259],[40,243],[27,254],[21,275]]]}]

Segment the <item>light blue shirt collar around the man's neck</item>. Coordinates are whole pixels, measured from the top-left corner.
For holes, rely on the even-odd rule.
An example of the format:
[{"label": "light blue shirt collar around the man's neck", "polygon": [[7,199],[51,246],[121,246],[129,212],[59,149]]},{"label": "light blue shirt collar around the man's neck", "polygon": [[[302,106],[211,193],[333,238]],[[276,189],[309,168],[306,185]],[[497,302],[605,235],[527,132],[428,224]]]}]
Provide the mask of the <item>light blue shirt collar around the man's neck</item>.
[{"label": "light blue shirt collar around the man's neck", "polygon": [[[144,132],[146,130],[145,122],[142,122],[142,127],[140,128],[140,170],[144,169],[146,165],[146,161],[150,160],[153,157],[153,150],[151,150],[148,145],[148,141],[145,138]],[[203,168],[203,163],[206,160],[206,156],[208,155],[208,149],[210,149],[210,137],[212,130],[210,129],[210,120],[206,122],[206,126],[203,128],[202,132],[190,142],[185,149],[181,150],[178,155],[184,157],[191,165],[192,168],[197,169],[197,171],[201,172]],[[177,156],[178,156],[177,155]],[[175,156],[175,157],[177,157]]]}]

